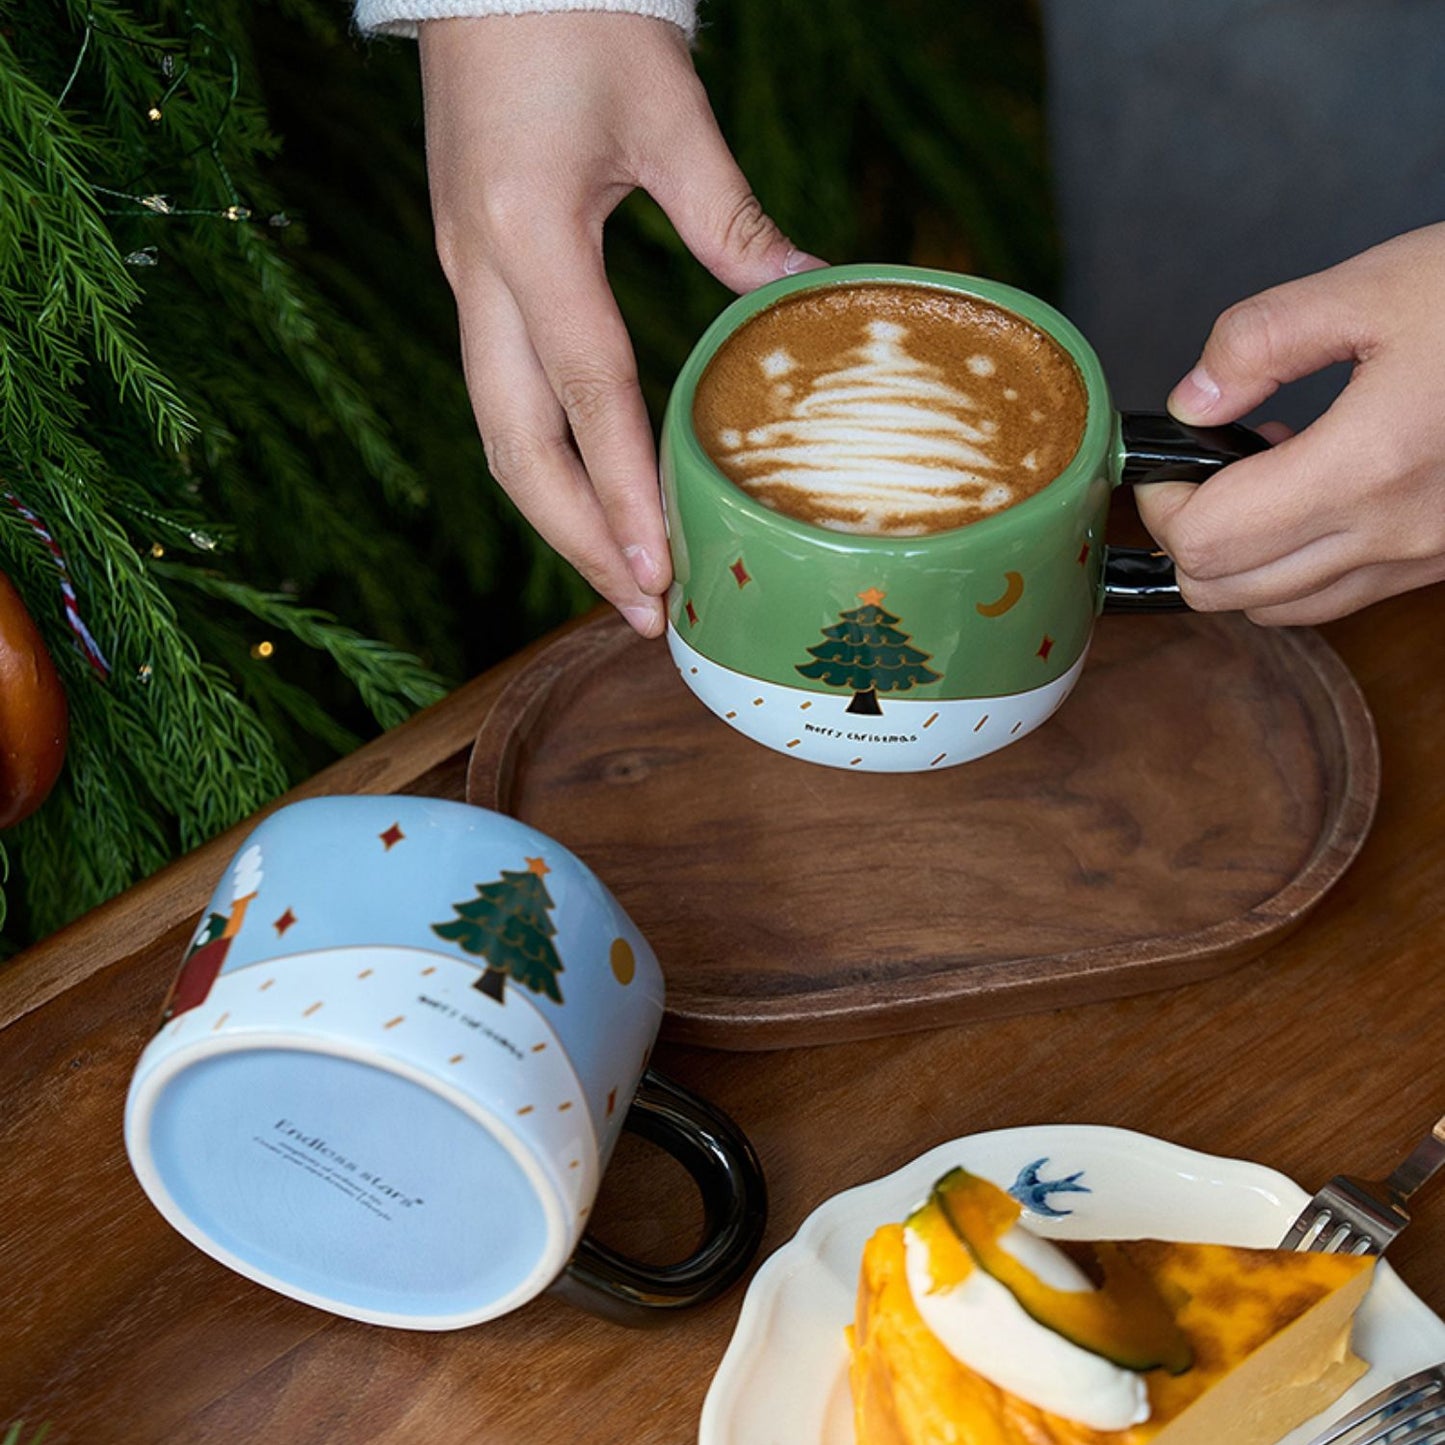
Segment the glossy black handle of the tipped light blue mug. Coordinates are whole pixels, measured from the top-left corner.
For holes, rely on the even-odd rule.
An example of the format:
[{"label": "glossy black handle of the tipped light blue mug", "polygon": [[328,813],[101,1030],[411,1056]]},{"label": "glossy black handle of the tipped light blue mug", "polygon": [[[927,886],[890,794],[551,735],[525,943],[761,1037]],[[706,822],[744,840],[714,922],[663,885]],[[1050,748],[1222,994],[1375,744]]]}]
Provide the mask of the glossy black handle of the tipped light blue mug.
[{"label": "glossy black handle of the tipped light blue mug", "polygon": [[621,1325],[665,1324],[721,1295],[747,1269],[767,1224],[763,1166],[722,1110],[647,1069],[623,1129],[665,1149],[702,1195],[702,1243],[675,1264],[644,1264],[582,1235],[552,1285],[568,1303]]}]

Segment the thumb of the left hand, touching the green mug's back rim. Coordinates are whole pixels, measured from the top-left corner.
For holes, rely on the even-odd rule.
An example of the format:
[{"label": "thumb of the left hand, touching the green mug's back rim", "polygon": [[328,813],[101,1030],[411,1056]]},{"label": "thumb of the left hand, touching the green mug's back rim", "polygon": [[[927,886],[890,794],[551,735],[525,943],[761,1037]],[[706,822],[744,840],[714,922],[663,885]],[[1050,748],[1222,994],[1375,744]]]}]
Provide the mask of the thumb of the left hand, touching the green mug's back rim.
[{"label": "thumb of the left hand, touching the green mug's back rim", "polygon": [[646,185],[688,250],[736,292],[828,264],[777,228],[708,110],[673,136]]}]

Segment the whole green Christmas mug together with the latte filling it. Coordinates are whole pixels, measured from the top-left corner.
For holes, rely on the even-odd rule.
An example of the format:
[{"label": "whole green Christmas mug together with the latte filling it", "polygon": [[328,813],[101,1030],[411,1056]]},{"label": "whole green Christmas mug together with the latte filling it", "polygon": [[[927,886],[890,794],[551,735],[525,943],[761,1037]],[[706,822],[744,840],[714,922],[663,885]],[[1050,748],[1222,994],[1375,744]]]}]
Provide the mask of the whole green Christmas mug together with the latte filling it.
[{"label": "whole green Christmas mug together with the latte filling it", "polygon": [[832,266],[733,302],[678,376],[659,449],[668,646],[720,718],[788,757],[933,772],[1027,737],[1110,605],[1182,605],[1110,546],[1121,484],[1202,481],[1244,426],[1120,413],[1038,296]]}]

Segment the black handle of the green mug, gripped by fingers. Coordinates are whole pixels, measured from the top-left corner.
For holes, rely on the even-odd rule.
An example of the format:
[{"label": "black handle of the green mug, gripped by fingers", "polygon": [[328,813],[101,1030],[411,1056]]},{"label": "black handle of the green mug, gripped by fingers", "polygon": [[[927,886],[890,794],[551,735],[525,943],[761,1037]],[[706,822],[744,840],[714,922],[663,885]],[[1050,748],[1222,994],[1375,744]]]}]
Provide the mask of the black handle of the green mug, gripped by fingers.
[{"label": "black handle of the green mug, gripped by fingers", "polygon": [[[1185,426],[1168,412],[1124,412],[1118,419],[1124,444],[1120,486],[1150,481],[1208,481],[1231,461],[1269,449],[1259,432],[1230,426]],[[1111,546],[1104,553],[1104,611],[1188,611],[1173,562],[1163,552]]]}]

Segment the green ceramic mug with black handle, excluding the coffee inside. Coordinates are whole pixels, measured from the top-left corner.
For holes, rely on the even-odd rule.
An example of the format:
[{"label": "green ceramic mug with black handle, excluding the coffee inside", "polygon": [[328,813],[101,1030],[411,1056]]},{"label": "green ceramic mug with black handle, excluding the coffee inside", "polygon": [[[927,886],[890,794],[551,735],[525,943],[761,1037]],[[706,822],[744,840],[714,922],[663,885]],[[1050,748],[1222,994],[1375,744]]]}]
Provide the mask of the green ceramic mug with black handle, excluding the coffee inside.
[{"label": "green ceramic mug with black handle, excluding the coffee inside", "polygon": [[[694,400],[728,337],[799,290],[877,283],[978,298],[1064,348],[1087,415],[1072,461],[1052,483],[967,526],[880,536],[779,513],[714,465],[694,428]],[[1105,545],[1114,487],[1202,481],[1264,445],[1244,426],[1118,413],[1088,341],[1013,286],[881,264],[786,277],[717,318],[668,405],[660,462],[673,662],[718,717],[790,757],[860,772],[926,772],[983,757],[1064,702],[1101,610],[1183,605],[1168,558]]]}]

